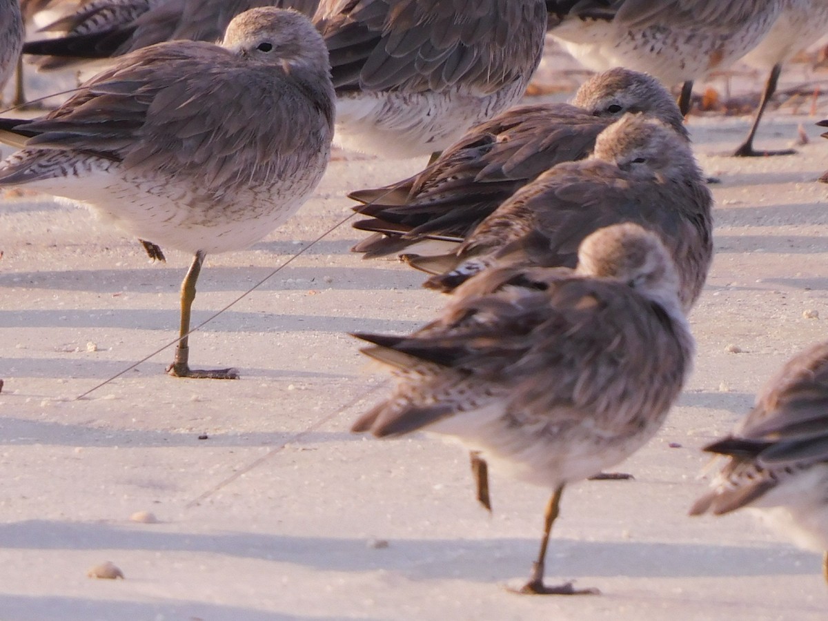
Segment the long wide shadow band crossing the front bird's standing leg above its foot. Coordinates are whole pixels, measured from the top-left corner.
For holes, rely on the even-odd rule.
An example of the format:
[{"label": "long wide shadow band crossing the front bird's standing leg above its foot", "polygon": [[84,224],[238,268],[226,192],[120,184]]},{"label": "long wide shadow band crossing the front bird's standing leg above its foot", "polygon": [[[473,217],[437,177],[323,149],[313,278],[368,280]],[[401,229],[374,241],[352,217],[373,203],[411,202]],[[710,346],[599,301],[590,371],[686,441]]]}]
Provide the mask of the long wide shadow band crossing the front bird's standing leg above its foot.
[{"label": "long wide shadow band crossing the front bird's standing leg above its foot", "polygon": [[[256,532],[162,532],[146,525],[29,520],[0,524],[0,547],[32,550],[207,552],[293,563],[323,571],[397,570],[416,580],[491,582],[522,576],[537,553],[535,538],[397,539],[375,550],[364,539],[289,537]],[[552,538],[548,575],[716,577],[810,575],[812,553],[782,544],[585,542]],[[493,561],[497,559],[497,561]],[[128,568],[122,567],[125,573]]]}]

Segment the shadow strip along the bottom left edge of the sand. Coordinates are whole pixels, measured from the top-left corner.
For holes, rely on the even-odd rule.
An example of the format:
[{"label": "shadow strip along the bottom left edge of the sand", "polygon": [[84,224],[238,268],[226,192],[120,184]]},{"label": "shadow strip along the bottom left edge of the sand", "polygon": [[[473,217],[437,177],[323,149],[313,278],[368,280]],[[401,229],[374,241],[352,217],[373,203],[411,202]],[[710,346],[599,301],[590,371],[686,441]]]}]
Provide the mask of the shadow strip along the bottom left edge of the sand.
[{"label": "shadow strip along the bottom left edge of the sand", "polygon": [[[89,619],[210,619],[210,621],[336,621],[335,617],[280,614],[267,610],[188,599],[136,602],[124,599],[85,599],[60,595],[0,595],[3,619],[14,621],[89,621]],[[349,619],[373,619],[351,617]]]}]

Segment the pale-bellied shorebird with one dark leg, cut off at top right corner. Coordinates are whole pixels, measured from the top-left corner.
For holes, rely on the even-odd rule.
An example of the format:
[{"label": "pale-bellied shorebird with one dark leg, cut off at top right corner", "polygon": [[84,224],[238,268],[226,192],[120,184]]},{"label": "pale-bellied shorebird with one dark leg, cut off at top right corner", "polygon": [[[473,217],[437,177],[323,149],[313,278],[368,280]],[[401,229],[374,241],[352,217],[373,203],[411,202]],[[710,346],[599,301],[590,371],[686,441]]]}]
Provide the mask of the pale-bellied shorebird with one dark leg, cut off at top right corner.
[{"label": "pale-bellied shorebird with one dark leg, cut off at top right corner", "polygon": [[756,116],[753,118],[753,125],[744,142],[734,152],[734,156],[774,156],[796,153],[793,149],[756,151],[753,149],[753,137],[756,135],[768,100],[776,92],[782,65],[787,60],[791,60],[798,51],[804,50],[824,36],[826,31],[828,31],[828,0],[782,0],[782,12],[779,13],[776,22],[773,22],[773,27],[758,46],[742,59],[749,65],[770,73],[756,110]]}]

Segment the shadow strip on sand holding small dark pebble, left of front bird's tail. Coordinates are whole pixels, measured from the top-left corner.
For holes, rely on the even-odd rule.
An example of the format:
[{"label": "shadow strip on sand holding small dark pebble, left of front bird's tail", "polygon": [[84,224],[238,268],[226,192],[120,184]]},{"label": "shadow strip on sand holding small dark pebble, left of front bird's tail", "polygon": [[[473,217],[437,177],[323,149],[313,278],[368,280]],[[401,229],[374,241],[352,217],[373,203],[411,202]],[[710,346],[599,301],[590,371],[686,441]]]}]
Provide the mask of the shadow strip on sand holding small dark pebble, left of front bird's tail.
[{"label": "shadow strip on sand holding small dark pebble, left of front bird's tail", "polygon": [[[197,426],[197,425],[196,425]],[[200,446],[205,448],[239,446],[273,446],[286,442],[293,445],[325,444],[326,442],[359,442],[362,436],[350,431],[313,431],[302,433],[297,439],[296,431],[210,433],[207,440],[199,440],[200,431],[176,432],[155,430],[123,430],[113,427],[89,425],[68,425],[54,421],[30,421],[4,416],[0,427],[2,445],[54,445],[84,447],[140,447],[159,446]]]}]

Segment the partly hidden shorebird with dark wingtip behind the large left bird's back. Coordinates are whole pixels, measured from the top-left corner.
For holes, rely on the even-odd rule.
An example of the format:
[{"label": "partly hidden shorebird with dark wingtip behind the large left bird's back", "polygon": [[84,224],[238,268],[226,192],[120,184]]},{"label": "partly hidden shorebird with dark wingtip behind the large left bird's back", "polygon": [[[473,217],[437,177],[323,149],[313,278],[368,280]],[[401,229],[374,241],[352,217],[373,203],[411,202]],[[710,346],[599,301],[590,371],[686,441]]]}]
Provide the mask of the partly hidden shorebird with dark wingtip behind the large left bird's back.
[{"label": "partly hidden shorebird with dark wingtip behind the large left bird's back", "polygon": [[[54,2],[53,2],[54,3]],[[218,41],[230,20],[259,7],[293,8],[310,17],[318,0],[86,0],[41,28],[60,36],[28,41],[24,53],[38,66],[58,69],[102,60],[164,41]]]}]

